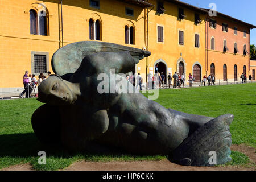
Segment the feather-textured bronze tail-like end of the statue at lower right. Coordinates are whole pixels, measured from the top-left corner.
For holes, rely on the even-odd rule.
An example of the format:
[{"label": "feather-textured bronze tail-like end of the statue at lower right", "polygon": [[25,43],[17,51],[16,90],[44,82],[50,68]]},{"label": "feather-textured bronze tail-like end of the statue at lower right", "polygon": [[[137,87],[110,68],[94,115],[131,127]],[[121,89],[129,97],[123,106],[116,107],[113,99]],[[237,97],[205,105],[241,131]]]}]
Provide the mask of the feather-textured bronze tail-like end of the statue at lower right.
[{"label": "feather-textured bronze tail-like end of the statue at lower right", "polygon": [[184,139],[168,159],[185,166],[212,166],[229,162],[232,160],[229,125],[233,118],[232,114],[224,114],[206,122]]}]

